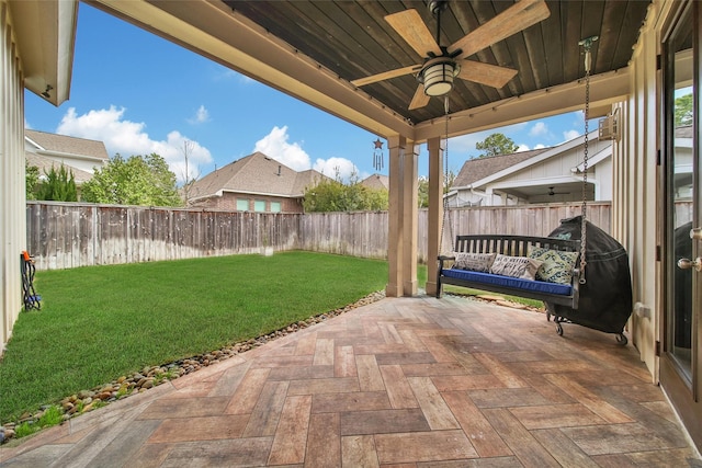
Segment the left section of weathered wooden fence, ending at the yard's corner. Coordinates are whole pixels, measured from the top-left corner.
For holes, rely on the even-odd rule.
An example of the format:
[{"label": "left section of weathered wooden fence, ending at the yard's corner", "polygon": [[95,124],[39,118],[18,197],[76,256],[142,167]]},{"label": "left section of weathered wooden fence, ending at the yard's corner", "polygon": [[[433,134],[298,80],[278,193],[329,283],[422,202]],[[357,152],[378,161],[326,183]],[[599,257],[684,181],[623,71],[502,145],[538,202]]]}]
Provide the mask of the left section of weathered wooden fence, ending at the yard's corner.
[{"label": "left section of weathered wooden fence, ending at the yard's corner", "polygon": [[295,249],[294,214],[29,202],[27,248],[38,270]]}]

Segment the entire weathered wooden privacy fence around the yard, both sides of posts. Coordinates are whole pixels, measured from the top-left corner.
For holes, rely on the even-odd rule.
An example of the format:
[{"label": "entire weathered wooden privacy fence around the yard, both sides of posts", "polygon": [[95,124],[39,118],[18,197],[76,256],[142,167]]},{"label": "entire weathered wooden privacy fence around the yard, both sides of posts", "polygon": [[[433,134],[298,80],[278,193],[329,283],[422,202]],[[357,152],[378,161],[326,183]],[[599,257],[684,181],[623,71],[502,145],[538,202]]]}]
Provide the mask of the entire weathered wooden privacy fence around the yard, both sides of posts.
[{"label": "entire weathered wooden privacy fence around the yard, both sides of posts", "polygon": [[[547,236],[578,204],[471,207],[446,215],[443,250],[452,237],[471,233]],[[588,205],[589,219],[610,231],[610,204]],[[37,270],[199,256],[308,250],[387,256],[386,212],[251,213],[141,206],[27,202],[27,249]],[[428,216],[418,214],[417,259],[427,259]],[[395,241],[395,240],[392,240]],[[18,253],[19,254],[19,253]]]}]

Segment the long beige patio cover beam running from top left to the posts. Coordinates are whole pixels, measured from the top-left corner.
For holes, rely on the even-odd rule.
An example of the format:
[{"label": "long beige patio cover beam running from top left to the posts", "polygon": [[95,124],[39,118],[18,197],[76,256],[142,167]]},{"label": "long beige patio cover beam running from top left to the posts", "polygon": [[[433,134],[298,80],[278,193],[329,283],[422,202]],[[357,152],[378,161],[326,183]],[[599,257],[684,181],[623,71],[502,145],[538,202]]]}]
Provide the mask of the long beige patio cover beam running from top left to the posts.
[{"label": "long beige patio cover beam running from top left to the posts", "polygon": [[386,138],[412,134],[411,125],[399,114],[223,2],[87,3],[371,133]]}]

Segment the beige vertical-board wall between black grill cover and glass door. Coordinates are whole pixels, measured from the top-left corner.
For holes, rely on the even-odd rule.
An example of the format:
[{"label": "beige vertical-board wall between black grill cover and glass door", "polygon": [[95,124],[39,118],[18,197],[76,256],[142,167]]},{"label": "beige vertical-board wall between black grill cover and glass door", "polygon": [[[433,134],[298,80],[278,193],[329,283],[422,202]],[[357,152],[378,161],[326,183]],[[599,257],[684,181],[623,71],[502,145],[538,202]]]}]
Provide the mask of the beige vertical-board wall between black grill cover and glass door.
[{"label": "beige vertical-board wall between black grill cover and glass door", "polygon": [[631,94],[620,106],[623,135],[612,155],[612,236],[629,252],[634,313],[630,320],[633,344],[658,380],[655,342],[661,330],[661,271],[656,243],[661,224],[657,190],[658,96],[656,71],[658,34],[670,1],[654,1],[630,62]]}]

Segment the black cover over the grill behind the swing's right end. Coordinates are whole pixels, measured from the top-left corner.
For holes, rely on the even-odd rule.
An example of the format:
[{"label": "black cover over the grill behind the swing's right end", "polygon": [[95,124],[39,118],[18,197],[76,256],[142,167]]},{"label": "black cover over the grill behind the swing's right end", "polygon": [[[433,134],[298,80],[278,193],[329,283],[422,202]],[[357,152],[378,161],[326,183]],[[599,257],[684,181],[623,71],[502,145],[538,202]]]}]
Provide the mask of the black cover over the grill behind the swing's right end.
[{"label": "black cover over the grill behind the swing's right end", "polygon": [[[548,237],[581,239],[582,216],[562,219]],[[622,333],[632,313],[632,277],[626,250],[602,229],[586,221],[586,283],[580,284],[578,309],[546,304],[548,311],[574,323],[607,333]],[[579,265],[577,265],[579,267]]]}]

